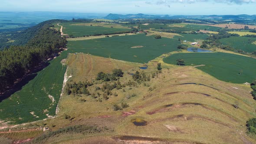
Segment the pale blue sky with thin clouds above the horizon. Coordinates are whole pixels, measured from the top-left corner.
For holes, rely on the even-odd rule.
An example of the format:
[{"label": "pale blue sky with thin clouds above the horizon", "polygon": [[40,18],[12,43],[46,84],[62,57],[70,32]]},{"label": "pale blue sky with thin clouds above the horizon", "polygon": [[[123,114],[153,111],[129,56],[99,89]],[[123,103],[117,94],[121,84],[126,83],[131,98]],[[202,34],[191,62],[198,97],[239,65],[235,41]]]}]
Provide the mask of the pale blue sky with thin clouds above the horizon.
[{"label": "pale blue sky with thin clouds above the horizon", "polygon": [[256,0],[1,0],[0,5],[0,11],[169,15],[254,15],[255,8]]}]

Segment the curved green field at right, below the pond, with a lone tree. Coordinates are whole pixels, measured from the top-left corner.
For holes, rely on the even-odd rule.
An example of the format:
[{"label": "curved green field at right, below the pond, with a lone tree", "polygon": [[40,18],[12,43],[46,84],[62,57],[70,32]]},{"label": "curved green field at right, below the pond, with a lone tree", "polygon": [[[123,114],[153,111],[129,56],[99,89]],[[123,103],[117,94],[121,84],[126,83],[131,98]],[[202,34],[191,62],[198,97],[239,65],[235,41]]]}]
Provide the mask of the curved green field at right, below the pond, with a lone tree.
[{"label": "curved green field at right, below the pond, with a lone tree", "polygon": [[[230,53],[177,53],[164,59],[164,62],[176,65],[177,59],[184,59],[185,65],[205,65],[197,69],[207,72],[225,82],[252,82],[256,78],[256,59]],[[240,69],[243,70],[240,75]]]}]

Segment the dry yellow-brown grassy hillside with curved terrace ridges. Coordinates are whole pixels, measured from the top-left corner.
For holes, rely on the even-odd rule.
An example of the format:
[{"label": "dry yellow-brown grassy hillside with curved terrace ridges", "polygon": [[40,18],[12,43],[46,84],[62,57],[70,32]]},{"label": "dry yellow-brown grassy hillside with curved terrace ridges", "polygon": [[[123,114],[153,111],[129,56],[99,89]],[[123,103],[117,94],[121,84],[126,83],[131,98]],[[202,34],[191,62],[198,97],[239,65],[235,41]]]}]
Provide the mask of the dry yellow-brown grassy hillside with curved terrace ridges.
[{"label": "dry yellow-brown grassy hillside with curved terrace ridges", "polygon": [[[69,55],[66,63],[67,73],[72,75],[68,82],[77,82],[80,78],[82,81],[92,81],[97,72],[111,72],[114,68],[120,68],[125,73],[119,81],[124,84],[129,80],[133,82],[128,73],[142,72],[139,64],[80,53]],[[155,67],[154,62],[149,62],[148,69],[143,71],[151,75],[156,72]],[[102,98],[102,90],[97,91],[95,87],[102,87],[104,83],[95,81],[88,88],[89,92],[99,92],[98,98]],[[256,102],[249,94],[249,86],[222,82],[194,67],[171,65],[165,65],[162,73],[151,78],[150,82],[143,83],[113,89],[112,93],[118,96],[110,95],[102,101],[91,95],[63,95],[59,116],[36,124],[46,124],[51,131],[76,124],[97,125],[113,128],[114,131],[89,135],[57,134],[45,139],[45,143],[255,143],[253,138],[246,135],[243,127],[248,118],[256,116]],[[148,91],[147,85],[155,86],[155,89]],[[136,96],[127,98],[131,94]],[[120,105],[121,102],[126,102],[129,107],[113,111],[112,105]],[[232,106],[236,102],[239,109]],[[72,119],[66,119],[65,115]],[[133,123],[135,119],[145,121],[145,124],[136,126]],[[51,127],[53,124],[56,126]]]}]

